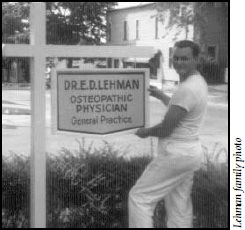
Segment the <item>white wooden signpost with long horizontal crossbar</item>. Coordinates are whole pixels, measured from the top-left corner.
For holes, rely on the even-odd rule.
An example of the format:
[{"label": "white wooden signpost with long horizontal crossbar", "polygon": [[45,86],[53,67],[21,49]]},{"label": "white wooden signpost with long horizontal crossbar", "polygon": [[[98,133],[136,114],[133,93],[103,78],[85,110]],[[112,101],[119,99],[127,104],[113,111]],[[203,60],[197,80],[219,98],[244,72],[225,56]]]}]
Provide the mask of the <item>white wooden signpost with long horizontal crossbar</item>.
[{"label": "white wooden signpost with long horizontal crossbar", "polygon": [[31,59],[31,228],[46,227],[45,67],[47,57],[149,58],[152,47],[46,45],[46,5],[30,8],[30,44],[2,44],[4,57]]}]

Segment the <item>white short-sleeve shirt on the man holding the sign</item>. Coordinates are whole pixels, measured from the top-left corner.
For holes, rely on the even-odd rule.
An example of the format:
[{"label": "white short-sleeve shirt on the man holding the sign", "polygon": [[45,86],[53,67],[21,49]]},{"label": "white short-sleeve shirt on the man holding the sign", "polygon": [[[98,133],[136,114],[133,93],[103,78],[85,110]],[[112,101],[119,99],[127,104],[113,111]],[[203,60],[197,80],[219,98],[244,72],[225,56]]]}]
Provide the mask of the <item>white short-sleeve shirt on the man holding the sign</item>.
[{"label": "white short-sleeve shirt on the man holding the sign", "polygon": [[180,106],[187,111],[187,115],[167,139],[183,141],[198,139],[199,129],[206,113],[207,98],[207,83],[200,74],[191,75],[180,83],[169,102],[169,107]]}]

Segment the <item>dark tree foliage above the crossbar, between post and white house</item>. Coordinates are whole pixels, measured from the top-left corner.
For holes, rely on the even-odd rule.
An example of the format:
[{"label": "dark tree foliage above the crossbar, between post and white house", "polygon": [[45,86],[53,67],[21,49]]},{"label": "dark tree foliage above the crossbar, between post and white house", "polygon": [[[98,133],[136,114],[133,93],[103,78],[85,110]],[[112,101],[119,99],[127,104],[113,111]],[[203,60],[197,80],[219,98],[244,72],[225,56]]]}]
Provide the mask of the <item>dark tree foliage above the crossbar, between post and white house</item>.
[{"label": "dark tree foliage above the crossbar, between post and white house", "polygon": [[106,37],[106,13],[115,2],[49,2],[49,44],[101,44]]}]

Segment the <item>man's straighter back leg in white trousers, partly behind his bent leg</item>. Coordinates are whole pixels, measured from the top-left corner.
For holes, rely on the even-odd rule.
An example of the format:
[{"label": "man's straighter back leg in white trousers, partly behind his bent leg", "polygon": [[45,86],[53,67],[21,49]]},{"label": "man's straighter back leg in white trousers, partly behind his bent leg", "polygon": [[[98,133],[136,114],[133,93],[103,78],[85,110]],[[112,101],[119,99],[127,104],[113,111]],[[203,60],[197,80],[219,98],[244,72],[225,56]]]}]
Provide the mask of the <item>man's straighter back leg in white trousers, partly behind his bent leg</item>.
[{"label": "man's straighter back leg in white trousers, partly behind his bent leg", "polygon": [[164,198],[168,228],[193,227],[192,184],[193,173]]}]

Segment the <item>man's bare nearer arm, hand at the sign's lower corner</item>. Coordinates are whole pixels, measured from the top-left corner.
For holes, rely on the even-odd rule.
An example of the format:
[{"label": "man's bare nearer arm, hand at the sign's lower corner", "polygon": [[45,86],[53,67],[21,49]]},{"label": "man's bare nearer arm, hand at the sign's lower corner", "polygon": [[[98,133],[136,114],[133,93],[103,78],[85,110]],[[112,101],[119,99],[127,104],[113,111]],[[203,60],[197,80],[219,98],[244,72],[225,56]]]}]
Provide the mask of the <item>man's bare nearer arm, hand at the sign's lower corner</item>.
[{"label": "man's bare nearer arm, hand at the sign's lower corner", "polygon": [[177,105],[171,105],[164,120],[160,124],[151,128],[139,129],[135,134],[141,138],[148,136],[168,137],[186,114],[187,111],[184,108]]}]

